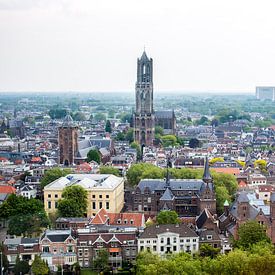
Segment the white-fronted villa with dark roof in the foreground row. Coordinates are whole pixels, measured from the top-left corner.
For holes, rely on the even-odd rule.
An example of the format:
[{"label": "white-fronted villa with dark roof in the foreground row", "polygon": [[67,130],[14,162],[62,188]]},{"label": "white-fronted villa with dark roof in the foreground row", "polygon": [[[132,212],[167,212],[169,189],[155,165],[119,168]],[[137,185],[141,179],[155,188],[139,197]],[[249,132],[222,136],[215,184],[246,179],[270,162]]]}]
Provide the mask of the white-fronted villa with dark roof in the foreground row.
[{"label": "white-fronted villa with dark roof in the foreground row", "polygon": [[185,224],[161,224],[145,228],[138,238],[138,251],[167,253],[199,251],[199,236]]}]

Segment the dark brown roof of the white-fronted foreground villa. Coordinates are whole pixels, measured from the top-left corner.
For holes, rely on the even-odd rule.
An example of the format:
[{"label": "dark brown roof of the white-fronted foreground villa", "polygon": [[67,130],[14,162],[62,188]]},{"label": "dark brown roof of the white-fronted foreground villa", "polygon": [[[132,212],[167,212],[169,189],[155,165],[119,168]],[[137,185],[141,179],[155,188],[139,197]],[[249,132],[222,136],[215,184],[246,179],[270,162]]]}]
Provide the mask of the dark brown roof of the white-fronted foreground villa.
[{"label": "dark brown roof of the white-fronted foreground villa", "polygon": [[157,235],[166,232],[179,234],[180,237],[198,237],[195,231],[190,229],[185,224],[160,224],[146,227],[144,232],[141,233],[140,239],[157,238]]}]

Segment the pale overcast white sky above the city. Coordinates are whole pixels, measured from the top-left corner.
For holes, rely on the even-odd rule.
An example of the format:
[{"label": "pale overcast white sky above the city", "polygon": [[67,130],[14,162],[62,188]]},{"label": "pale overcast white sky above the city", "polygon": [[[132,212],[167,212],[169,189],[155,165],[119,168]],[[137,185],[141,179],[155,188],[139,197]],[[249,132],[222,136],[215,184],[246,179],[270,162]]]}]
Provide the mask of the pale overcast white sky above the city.
[{"label": "pale overcast white sky above the city", "polygon": [[0,91],[133,92],[275,85],[274,0],[0,0]]}]

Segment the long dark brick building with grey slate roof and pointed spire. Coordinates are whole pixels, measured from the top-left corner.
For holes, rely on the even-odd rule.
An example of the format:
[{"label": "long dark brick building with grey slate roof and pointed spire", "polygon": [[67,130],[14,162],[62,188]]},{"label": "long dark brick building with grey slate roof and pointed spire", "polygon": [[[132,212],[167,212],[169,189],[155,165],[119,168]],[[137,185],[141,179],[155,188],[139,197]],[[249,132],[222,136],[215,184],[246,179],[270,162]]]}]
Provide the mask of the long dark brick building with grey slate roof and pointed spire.
[{"label": "long dark brick building with grey slate roof and pointed spire", "polygon": [[135,190],[125,193],[129,211],[156,215],[175,210],[179,216],[197,216],[205,208],[216,213],[216,196],[208,160],[202,179],[142,179]]}]

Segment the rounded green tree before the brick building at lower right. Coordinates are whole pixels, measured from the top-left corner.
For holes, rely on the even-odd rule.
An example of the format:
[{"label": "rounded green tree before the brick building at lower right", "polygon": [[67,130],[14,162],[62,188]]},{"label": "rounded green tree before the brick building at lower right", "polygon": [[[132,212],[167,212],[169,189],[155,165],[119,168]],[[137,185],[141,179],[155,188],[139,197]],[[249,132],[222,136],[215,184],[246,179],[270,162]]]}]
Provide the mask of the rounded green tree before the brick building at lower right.
[{"label": "rounded green tree before the brick building at lower right", "polygon": [[263,241],[270,242],[266,235],[266,227],[257,221],[247,221],[238,229],[238,240],[235,241],[235,246],[247,249],[251,244]]}]

